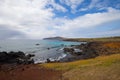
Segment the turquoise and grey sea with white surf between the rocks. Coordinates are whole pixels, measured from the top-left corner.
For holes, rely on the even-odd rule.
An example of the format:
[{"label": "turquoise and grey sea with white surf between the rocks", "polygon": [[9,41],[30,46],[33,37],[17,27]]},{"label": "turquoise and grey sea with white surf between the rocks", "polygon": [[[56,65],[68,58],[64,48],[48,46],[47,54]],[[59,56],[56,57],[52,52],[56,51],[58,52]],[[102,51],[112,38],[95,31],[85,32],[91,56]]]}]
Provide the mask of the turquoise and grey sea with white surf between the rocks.
[{"label": "turquoise and grey sea with white surf between the rocks", "polygon": [[23,51],[26,54],[35,54],[34,60],[39,63],[45,62],[48,58],[59,60],[66,56],[63,52],[64,47],[79,44],[81,43],[57,40],[1,40],[0,51]]}]

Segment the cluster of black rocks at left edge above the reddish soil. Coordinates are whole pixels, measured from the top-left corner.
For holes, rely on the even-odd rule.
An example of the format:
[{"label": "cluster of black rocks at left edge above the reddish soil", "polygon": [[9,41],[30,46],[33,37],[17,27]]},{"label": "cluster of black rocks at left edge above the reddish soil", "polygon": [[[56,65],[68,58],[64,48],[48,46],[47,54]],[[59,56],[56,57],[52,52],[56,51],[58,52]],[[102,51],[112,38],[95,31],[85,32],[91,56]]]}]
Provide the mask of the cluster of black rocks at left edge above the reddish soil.
[{"label": "cluster of black rocks at left edge above the reddish soil", "polygon": [[34,63],[34,60],[31,59],[34,55],[28,54],[19,51],[19,52],[0,52],[0,64],[31,64]]}]

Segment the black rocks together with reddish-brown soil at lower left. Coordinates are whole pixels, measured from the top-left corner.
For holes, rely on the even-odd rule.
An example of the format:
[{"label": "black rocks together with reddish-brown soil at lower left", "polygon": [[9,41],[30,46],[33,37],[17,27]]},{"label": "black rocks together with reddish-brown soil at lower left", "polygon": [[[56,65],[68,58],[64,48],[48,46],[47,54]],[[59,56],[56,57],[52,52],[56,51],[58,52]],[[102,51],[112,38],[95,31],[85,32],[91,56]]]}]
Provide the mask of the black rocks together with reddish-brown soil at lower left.
[{"label": "black rocks together with reddish-brown soil at lower left", "polygon": [[0,52],[0,80],[59,80],[62,71],[34,64],[33,54]]}]

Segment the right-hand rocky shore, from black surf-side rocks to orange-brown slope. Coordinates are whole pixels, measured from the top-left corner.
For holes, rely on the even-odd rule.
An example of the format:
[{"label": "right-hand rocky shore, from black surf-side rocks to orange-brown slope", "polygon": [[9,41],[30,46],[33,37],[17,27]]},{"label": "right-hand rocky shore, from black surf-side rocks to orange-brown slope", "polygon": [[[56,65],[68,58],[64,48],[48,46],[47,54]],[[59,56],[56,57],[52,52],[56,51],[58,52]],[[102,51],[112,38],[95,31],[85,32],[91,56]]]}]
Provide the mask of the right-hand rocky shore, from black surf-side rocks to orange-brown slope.
[{"label": "right-hand rocky shore, from black surf-side rocks to orange-brown slope", "polygon": [[[76,51],[78,49],[80,51]],[[74,61],[80,59],[95,58],[110,54],[120,53],[120,42],[88,42],[86,44],[64,48],[64,52],[70,54],[63,61]]]}]

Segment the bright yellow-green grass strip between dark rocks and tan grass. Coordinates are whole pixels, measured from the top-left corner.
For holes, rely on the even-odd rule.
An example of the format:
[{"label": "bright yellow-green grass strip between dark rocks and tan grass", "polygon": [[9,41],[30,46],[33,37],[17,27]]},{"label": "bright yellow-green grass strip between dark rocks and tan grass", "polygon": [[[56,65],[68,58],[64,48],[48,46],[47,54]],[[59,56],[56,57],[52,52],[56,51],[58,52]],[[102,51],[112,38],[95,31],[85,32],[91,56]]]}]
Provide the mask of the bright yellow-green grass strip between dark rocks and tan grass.
[{"label": "bright yellow-green grass strip between dark rocks and tan grass", "polygon": [[109,56],[99,56],[93,59],[78,60],[74,62],[45,63],[40,65],[46,68],[52,68],[56,70],[72,70],[72,69],[84,68],[84,67],[90,67],[90,66],[110,66],[116,62],[120,63],[120,54],[113,54]]}]

